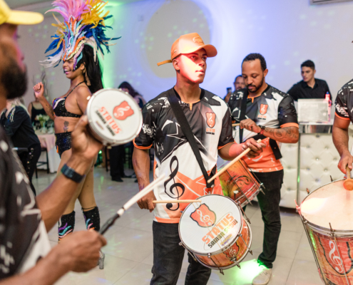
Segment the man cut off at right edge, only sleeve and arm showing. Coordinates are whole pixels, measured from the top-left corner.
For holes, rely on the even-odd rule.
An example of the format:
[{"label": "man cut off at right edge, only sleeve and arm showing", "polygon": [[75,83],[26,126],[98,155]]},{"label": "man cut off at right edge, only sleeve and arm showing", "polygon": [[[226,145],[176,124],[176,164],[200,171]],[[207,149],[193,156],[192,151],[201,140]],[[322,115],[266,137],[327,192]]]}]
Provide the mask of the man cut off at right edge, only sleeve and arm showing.
[{"label": "man cut off at right edge, only sleeve and arm showing", "polygon": [[353,79],[338,91],[334,107],[336,110],[332,139],[341,156],[338,168],[346,174],[346,167],[348,166],[352,170],[353,163],[352,153],[348,149],[348,127],[353,122]]}]

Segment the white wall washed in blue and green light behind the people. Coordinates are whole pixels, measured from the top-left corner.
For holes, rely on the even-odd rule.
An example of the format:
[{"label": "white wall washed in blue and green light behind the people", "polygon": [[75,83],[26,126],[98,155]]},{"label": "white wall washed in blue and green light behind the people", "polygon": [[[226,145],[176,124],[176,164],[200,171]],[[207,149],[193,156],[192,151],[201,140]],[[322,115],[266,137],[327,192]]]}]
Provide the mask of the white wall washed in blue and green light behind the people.
[{"label": "white wall washed in blue and green light behind the people", "polygon": [[[129,81],[146,99],[173,86],[173,66],[156,63],[170,58],[171,44],[180,34],[194,31],[218,48],[218,56],[208,59],[202,87],[220,96],[240,73],[242,58],[252,52],[265,56],[267,83],[283,91],[301,80],[300,64],[307,59],[314,61],[317,78],[327,81],[334,98],[353,78],[352,2],[309,6],[309,0],[145,0],[109,5],[115,17],[110,35],[122,38],[103,61],[106,87]],[[38,61],[55,31],[51,23],[49,15],[44,24],[19,30],[30,78],[40,73]],[[62,67],[49,68],[48,75],[51,98],[65,93]],[[28,91],[26,101],[32,96]]]}]

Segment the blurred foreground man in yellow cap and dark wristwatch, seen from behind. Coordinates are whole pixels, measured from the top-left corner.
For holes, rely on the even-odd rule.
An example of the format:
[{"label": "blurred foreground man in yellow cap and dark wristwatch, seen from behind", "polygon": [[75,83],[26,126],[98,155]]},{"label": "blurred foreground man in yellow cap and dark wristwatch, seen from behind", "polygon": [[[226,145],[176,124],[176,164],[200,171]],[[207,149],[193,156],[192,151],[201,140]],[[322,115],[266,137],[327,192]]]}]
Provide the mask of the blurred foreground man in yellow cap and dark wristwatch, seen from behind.
[{"label": "blurred foreground man in yellow cap and dark wristwatch, seen from behind", "polygon": [[[26,66],[16,41],[17,25],[39,24],[39,13],[11,11],[0,0],[0,110],[6,100],[24,95]],[[97,232],[76,232],[51,249],[47,232],[58,222],[83,173],[101,149],[86,132],[82,116],[72,133],[73,153],[68,171],[34,197],[29,179],[0,127],[0,285],[54,284],[68,271],[97,266],[106,240]]]}]

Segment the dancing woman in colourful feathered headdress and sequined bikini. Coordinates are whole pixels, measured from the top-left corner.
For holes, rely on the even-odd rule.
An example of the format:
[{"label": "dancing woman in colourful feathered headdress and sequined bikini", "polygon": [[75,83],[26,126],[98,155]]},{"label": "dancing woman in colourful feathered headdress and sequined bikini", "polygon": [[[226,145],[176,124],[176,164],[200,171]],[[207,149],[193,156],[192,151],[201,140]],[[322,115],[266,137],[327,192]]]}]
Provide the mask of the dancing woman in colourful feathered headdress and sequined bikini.
[{"label": "dancing woman in colourful feathered headdress and sequined bikini", "polygon": [[[101,0],[56,0],[53,2],[55,11],[63,16],[63,22],[53,24],[58,28],[56,35],[52,36],[54,41],[47,51],[56,49],[44,61],[44,66],[58,66],[63,61],[63,71],[66,78],[70,79],[69,90],[60,98],[53,100],[51,106],[44,98],[44,86],[38,83],[34,86],[36,97],[43,105],[46,113],[54,120],[56,135],[56,147],[61,156],[61,167],[71,157],[71,132],[83,113],[86,111],[89,98],[96,91],[103,88],[102,73],[99,66],[97,53],[103,56],[103,47],[109,52],[109,41],[117,38],[107,38],[105,20],[111,18],[108,12],[103,14],[106,5]],[[86,173],[86,178],[81,182],[59,221],[59,242],[67,234],[73,232],[75,226],[76,199],[81,203],[83,216],[85,217],[87,229],[100,229],[100,217],[93,195],[93,165]],[[103,269],[104,255],[101,254],[100,268]]]}]

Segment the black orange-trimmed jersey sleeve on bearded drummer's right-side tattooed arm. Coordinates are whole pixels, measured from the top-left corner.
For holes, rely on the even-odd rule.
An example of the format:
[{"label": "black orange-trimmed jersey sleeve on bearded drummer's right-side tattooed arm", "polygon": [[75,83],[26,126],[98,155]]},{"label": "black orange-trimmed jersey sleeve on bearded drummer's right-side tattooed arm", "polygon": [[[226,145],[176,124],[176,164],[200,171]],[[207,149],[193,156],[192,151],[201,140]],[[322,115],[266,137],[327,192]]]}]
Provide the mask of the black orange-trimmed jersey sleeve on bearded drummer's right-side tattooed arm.
[{"label": "black orange-trimmed jersey sleeve on bearded drummer's right-side tattooed arm", "polygon": [[294,100],[290,95],[285,95],[278,106],[278,120],[281,128],[299,128],[297,110],[295,110]]}]

